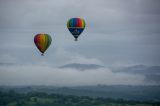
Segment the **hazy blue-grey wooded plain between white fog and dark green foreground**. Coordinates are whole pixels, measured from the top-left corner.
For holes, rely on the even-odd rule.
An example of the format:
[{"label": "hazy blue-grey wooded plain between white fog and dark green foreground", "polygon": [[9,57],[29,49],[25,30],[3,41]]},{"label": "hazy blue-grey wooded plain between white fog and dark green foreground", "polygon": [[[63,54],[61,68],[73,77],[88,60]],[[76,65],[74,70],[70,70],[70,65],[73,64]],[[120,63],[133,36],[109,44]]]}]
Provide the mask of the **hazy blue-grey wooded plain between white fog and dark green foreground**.
[{"label": "hazy blue-grey wooded plain between white fog and dark green foreground", "polygon": [[91,98],[112,98],[134,101],[160,101],[160,86],[129,86],[129,85],[97,85],[78,87],[56,86],[0,86],[0,91],[17,93],[45,92],[47,94],[62,94],[89,96]]}]

